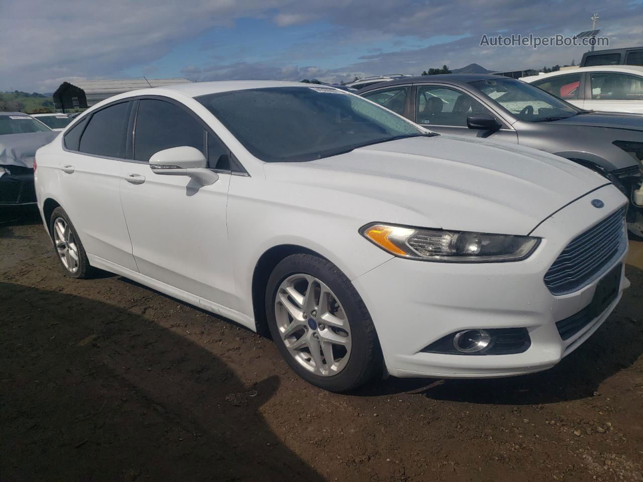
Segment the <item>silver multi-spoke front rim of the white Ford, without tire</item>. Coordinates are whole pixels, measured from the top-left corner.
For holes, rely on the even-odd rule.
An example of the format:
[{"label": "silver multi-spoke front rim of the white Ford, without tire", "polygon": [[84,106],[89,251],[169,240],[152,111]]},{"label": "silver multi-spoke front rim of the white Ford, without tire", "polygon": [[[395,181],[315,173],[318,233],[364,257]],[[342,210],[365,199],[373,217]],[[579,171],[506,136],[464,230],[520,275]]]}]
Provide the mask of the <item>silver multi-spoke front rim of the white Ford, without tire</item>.
[{"label": "silver multi-spoke front rim of the white Ford, without tire", "polygon": [[291,356],[315,375],[330,377],[349,361],[349,319],[323,281],[309,274],[285,278],[276,291],[275,319]]}]

